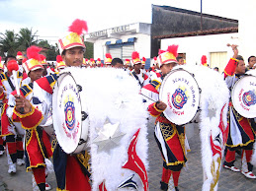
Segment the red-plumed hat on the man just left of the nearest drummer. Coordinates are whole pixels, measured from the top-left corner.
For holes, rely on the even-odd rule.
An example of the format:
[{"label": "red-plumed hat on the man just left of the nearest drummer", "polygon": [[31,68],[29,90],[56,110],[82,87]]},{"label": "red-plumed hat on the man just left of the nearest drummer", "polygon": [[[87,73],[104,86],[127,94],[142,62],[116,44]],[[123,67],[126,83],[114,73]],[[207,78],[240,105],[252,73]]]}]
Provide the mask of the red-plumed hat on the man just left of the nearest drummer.
[{"label": "red-plumed hat on the man just left of the nearest drummer", "polygon": [[30,71],[35,71],[41,68],[43,69],[43,65],[41,64],[41,56],[39,54],[41,50],[42,48],[36,45],[33,45],[27,49],[28,60],[23,63],[23,68],[27,74],[29,74]]}]

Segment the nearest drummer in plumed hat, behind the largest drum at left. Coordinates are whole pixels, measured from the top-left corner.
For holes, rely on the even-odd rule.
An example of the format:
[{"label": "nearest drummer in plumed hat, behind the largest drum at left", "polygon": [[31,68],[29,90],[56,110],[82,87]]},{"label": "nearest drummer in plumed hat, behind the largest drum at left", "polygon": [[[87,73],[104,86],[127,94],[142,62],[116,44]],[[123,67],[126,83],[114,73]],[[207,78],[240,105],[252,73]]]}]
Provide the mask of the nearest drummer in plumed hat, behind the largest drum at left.
[{"label": "nearest drummer in plumed hat, behind the largest drum at left", "polygon": [[[75,20],[69,27],[69,34],[59,39],[59,51],[67,67],[81,67],[85,51],[81,37],[83,31],[88,31],[85,21]],[[34,105],[23,96],[16,96],[16,113],[24,127],[30,129],[45,122],[51,107],[53,86],[57,80],[56,74],[43,77],[34,83]],[[24,114],[20,108],[24,107]],[[52,108],[54,111],[54,108]],[[44,119],[43,119],[44,116]],[[53,153],[53,165],[57,180],[57,190],[91,190],[88,172],[88,154],[67,155],[56,144]]]}]

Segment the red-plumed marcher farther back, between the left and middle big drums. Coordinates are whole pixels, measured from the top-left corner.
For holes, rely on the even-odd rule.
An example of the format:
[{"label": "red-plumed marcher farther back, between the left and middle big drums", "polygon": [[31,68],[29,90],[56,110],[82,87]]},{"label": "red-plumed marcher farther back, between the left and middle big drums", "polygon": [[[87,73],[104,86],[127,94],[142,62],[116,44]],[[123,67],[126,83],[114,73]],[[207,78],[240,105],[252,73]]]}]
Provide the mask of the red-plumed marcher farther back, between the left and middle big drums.
[{"label": "red-plumed marcher farther back, between the left and middle big drums", "polygon": [[136,79],[139,86],[142,88],[143,86],[149,83],[149,77],[144,74],[141,70],[141,60],[139,59],[139,53],[133,51],[131,54],[131,63],[133,66],[133,70],[130,71],[130,76]]}]

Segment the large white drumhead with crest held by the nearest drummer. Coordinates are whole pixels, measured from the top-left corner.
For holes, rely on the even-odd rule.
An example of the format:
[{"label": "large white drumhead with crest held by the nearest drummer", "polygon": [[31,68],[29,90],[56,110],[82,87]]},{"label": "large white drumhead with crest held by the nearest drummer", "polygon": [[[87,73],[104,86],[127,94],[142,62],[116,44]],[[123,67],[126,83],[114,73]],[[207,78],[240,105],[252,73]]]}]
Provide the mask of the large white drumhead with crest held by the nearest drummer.
[{"label": "large white drumhead with crest held by the nearest drummer", "polygon": [[57,141],[67,154],[78,147],[81,137],[81,99],[70,73],[60,74],[52,94],[52,118]]}]

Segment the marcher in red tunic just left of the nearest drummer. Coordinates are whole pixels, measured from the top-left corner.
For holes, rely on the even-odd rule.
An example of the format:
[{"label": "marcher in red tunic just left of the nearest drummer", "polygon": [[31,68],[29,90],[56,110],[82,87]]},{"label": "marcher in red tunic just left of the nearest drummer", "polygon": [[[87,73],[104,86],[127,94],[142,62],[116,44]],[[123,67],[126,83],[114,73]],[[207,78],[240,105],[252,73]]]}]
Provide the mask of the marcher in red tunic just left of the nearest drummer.
[{"label": "marcher in red tunic just left of the nearest drummer", "polygon": [[[33,83],[34,81],[42,78],[43,65],[41,55],[39,52],[42,48],[37,46],[31,46],[27,50],[27,60],[23,66],[25,72],[31,79],[29,85],[25,85],[20,89],[21,96],[26,97],[28,100],[32,100],[33,97]],[[9,96],[7,115],[12,119],[13,123],[19,122],[19,117],[14,114],[14,105],[16,91]],[[20,125],[20,124],[19,124]],[[49,184],[45,183],[45,162],[44,159],[48,159],[52,156],[51,146],[49,143],[48,135],[41,126],[35,126],[32,128],[26,128],[25,139],[25,156],[26,156],[26,168],[27,171],[33,171],[33,190],[49,190]]]}]

